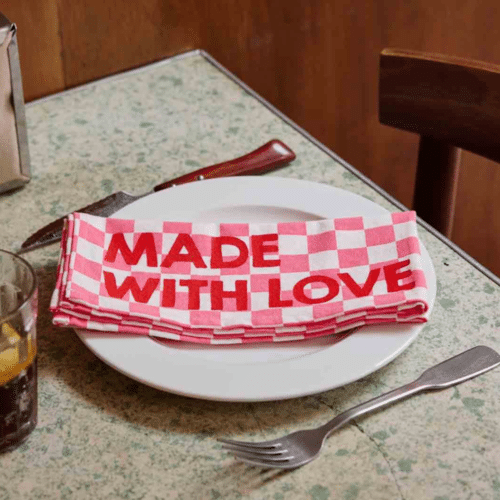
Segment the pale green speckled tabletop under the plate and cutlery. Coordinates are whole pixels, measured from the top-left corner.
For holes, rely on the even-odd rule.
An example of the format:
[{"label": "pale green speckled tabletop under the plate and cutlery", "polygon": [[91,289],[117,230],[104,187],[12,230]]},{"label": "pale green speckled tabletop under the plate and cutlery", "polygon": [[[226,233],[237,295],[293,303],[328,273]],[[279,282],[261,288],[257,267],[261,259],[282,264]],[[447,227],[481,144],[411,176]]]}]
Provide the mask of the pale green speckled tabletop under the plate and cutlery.
[{"label": "pale green speckled tabletop under the plate and cutlery", "polygon": [[[143,193],[277,137],[298,159],[268,174],[390,203],[264,108],[201,55],[149,66],[28,106],[33,180],[0,197],[0,247],[115,190]],[[321,457],[261,471],[218,436],[260,440],[308,428],[413,380],[477,344],[500,351],[500,288],[425,230],[438,295],[430,322],[394,362],[346,387],[267,403],[189,399],[98,360],[47,307],[58,247],[26,254],[40,278],[39,424],[0,456],[8,499],[500,499],[500,369],[356,420]]]}]

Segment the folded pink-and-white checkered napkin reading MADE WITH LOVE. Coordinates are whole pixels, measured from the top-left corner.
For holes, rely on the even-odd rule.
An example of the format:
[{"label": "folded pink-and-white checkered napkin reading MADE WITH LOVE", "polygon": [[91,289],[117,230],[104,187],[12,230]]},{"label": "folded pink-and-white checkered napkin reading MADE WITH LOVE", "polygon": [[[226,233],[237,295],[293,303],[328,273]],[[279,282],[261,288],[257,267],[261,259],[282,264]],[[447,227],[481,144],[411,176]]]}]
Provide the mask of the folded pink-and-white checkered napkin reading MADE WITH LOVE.
[{"label": "folded pink-and-white checkered napkin reading MADE WITH LOVE", "polygon": [[207,224],[74,213],[54,323],[210,343],[303,340],[427,320],[415,212]]}]

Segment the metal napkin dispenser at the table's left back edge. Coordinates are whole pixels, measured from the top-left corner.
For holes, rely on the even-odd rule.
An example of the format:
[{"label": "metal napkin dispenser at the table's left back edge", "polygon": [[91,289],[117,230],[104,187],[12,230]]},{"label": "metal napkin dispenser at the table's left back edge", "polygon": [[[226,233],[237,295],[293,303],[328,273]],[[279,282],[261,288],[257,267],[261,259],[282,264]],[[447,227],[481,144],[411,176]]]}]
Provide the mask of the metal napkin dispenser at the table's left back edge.
[{"label": "metal napkin dispenser at the table's left back edge", "polygon": [[0,13],[0,193],[30,180],[17,28]]}]

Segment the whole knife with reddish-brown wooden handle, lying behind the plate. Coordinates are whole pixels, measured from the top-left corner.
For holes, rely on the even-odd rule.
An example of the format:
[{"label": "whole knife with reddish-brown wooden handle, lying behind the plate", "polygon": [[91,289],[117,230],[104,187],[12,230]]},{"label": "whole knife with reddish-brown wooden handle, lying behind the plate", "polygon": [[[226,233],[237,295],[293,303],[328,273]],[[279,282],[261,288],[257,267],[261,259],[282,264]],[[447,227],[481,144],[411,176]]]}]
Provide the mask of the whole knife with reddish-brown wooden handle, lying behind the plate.
[{"label": "whole knife with reddish-brown wooden handle, lying behind the plate", "polygon": [[[167,189],[172,186],[186,184],[195,180],[214,179],[216,177],[229,177],[235,175],[263,174],[270,170],[283,167],[295,159],[295,153],[282,141],[273,139],[260,148],[247,153],[246,155],[235,158],[234,160],[217,163],[209,167],[195,170],[189,174],[182,175],[176,179],[163,182],[155,186],[152,191],[142,195],[132,195],[125,191],[117,191],[102,200],[96,201],[86,207],[76,210],[101,217],[109,217],[120,208],[148,196],[157,191]],[[41,248],[56,241],[60,241],[64,220],[67,215],[61,217],[50,224],[42,227],[33,233],[22,245],[18,254],[29,252],[36,248]]]}]

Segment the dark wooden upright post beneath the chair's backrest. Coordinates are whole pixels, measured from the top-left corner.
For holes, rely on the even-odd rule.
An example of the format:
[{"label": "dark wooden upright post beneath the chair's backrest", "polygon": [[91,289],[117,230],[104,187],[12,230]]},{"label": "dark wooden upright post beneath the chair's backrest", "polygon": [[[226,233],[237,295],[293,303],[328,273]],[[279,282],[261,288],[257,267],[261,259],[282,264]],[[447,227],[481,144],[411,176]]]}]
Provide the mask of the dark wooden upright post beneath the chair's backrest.
[{"label": "dark wooden upright post beneath the chair's backrest", "polygon": [[453,227],[460,156],[459,148],[420,138],[413,209],[447,238]]}]

